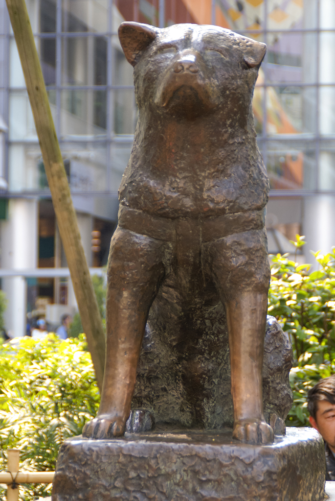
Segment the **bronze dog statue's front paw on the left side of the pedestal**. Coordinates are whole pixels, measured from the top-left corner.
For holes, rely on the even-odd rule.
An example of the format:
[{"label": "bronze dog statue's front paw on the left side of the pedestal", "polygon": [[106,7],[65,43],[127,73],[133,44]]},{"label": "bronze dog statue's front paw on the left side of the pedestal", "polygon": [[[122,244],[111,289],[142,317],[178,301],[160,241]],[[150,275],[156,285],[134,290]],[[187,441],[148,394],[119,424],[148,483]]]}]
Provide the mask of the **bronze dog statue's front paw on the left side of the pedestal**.
[{"label": "bronze dog statue's front paw on the left side of the pedestal", "polygon": [[82,428],[82,436],[103,440],[124,435],[125,421],[119,416],[110,414],[100,414],[91,421],[88,421]]}]

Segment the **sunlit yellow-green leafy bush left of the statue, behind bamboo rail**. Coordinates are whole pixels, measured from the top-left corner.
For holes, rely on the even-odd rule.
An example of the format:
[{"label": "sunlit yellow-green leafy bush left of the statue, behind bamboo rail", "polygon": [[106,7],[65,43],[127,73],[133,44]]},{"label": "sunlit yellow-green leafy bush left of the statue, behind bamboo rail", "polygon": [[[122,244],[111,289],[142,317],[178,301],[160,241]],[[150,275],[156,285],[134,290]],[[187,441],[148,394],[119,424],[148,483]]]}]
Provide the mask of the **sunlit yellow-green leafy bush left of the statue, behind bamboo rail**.
[{"label": "sunlit yellow-green leafy bush left of the statue, behind bamboo rail", "polygon": [[[58,448],[95,416],[99,392],[84,336],[29,337],[0,347],[0,469],[7,448],[19,448],[20,468],[52,471]],[[50,485],[20,488],[22,499],[50,495]],[[1,494],[1,493],[0,493]]]}]

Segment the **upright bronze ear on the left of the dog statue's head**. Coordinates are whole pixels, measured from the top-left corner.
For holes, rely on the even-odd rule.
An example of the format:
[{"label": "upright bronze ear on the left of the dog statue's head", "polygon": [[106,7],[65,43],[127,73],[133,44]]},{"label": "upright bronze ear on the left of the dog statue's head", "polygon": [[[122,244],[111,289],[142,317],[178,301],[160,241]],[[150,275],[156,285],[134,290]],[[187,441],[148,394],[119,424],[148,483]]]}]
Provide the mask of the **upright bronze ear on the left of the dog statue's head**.
[{"label": "upright bronze ear on the left of the dog statue's head", "polygon": [[140,53],[156,38],[158,29],[141,23],[125,22],[118,27],[118,38],[127,61],[135,66]]}]

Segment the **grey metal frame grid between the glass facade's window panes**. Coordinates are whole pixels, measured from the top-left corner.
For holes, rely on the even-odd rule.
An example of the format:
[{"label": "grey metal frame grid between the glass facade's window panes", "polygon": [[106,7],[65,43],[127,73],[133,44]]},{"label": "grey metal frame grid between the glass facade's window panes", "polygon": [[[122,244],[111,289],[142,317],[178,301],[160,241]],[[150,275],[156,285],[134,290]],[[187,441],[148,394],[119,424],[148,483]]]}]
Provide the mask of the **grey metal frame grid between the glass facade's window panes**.
[{"label": "grey metal frame grid between the glass facade's window panes", "polygon": [[[5,5],[5,0],[0,0],[4,5]],[[93,192],[89,191],[87,194],[94,194],[94,193],[108,193],[111,192],[110,189],[110,170],[111,170],[111,145],[113,143],[124,143],[124,144],[131,144],[132,143],[132,135],[121,135],[118,136],[116,134],[113,134],[112,132],[112,123],[113,123],[113,110],[111,106],[111,93],[115,90],[131,90],[133,89],[132,85],[113,85],[112,84],[112,71],[113,71],[113,51],[112,51],[112,37],[117,36],[117,32],[112,31],[112,6],[113,6],[113,0],[108,0],[108,31],[107,32],[62,32],[62,11],[61,11],[61,2],[62,0],[56,0],[56,32],[55,33],[35,33],[34,36],[37,39],[55,39],[56,40],[56,85],[48,85],[47,90],[55,90],[56,92],[56,123],[55,123],[55,128],[56,132],[59,138],[59,143],[69,143],[69,142],[93,142],[93,143],[103,143],[106,145],[107,148],[107,166],[106,166],[106,174],[107,174],[107,189],[104,192],[98,191],[98,192]],[[319,55],[319,39],[320,39],[320,33],[322,32],[328,32],[328,33],[333,33],[335,32],[335,27],[333,29],[320,29],[319,27],[319,10],[320,10],[320,0],[316,0],[317,3],[317,19],[316,19],[316,27],[315,28],[310,28],[310,29],[303,29],[303,28],[293,28],[293,29],[286,29],[286,30],[280,30],[280,33],[315,33],[316,34],[316,54],[317,57]],[[215,9],[215,0],[212,0],[211,3],[211,8],[212,8],[212,13],[211,13],[211,19],[215,19],[215,14],[214,14],[214,9]],[[164,9],[164,2],[160,0],[159,2],[159,9]],[[269,30],[267,29],[267,2],[264,1],[263,4],[263,9],[264,9],[264,26],[263,29],[260,30],[238,30],[237,32],[241,35],[245,36],[252,36],[253,34],[259,34],[263,35],[265,42],[267,41],[267,36],[268,34],[271,33],[278,33],[278,30]],[[161,24],[163,15],[162,12],[160,12],[160,22]],[[5,92],[5,110],[4,110],[4,119],[8,123],[8,98],[9,98],[9,91],[12,93],[19,92],[22,90],[25,90],[25,87],[19,88],[13,88],[9,89],[9,61],[8,61],[8,54],[9,54],[9,41],[11,38],[13,38],[13,35],[9,33],[9,18],[8,15],[5,16],[4,20],[4,26],[5,26],[5,33],[1,34],[0,37],[5,39],[5,45],[4,45],[4,56],[5,56],[5,67],[7,69],[6,73],[6,84],[4,87],[0,87],[0,91]],[[106,61],[106,66],[107,66],[107,82],[106,85],[62,85],[61,83],[61,42],[62,39],[69,39],[69,38],[88,38],[88,37],[105,37],[107,38],[107,61]],[[331,87],[335,86],[335,82],[333,83],[320,83],[319,82],[319,64],[317,62],[316,64],[316,74],[315,74],[315,81],[314,82],[285,82],[285,86],[289,87],[310,87],[310,88],[315,88],[316,92],[316,102],[315,102],[315,108],[316,108],[316,123],[315,123],[315,132],[314,133],[296,133],[296,134],[269,134],[266,130],[266,124],[267,124],[267,109],[266,109],[266,91],[270,87],[275,87],[279,85],[283,85],[283,82],[271,82],[269,83],[267,80],[267,53],[264,58],[264,64],[262,65],[263,71],[264,71],[264,82],[260,85],[257,84],[258,87],[263,88],[263,103],[262,103],[262,111],[263,111],[263,127],[262,127],[262,132],[261,134],[258,135],[258,143],[260,146],[260,150],[263,155],[264,163],[266,165],[267,163],[267,143],[269,141],[276,141],[276,142],[281,142],[285,141],[286,144],[288,142],[293,142],[296,140],[299,140],[302,143],[307,144],[308,141],[313,139],[314,144],[315,144],[315,172],[314,172],[314,189],[307,190],[304,188],[301,189],[272,189],[270,192],[270,195],[272,196],[301,196],[304,194],[310,194],[310,193],[315,193],[319,192],[319,186],[318,186],[318,169],[319,169],[319,150],[320,150],[320,144],[322,144],[322,140],[329,140],[333,139],[335,137],[335,134],[328,134],[328,135],[320,135],[319,132],[319,90],[320,87]],[[60,136],[60,110],[61,110],[61,91],[63,90],[105,90],[106,91],[106,107],[107,107],[107,113],[106,113],[106,134],[102,136],[85,136],[85,135],[80,135],[80,136],[69,136],[69,137],[61,137]],[[20,143],[25,143],[25,141],[10,141],[10,142],[20,142]],[[37,142],[37,141],[36,141]],[[32,143],[32,141],[29,141],[29,143]],[[8,140],[6,141],[6,166],[8,165]],[[8,172],[6,172],[6,176],[8,178]],[[324,191],[324,190],[323,190]],[[335,190],[328,190],[326,192],[335,192]],[[32,192],[29,191],[29,194],[38,194],[38,193],[43,193],[45,195],[45,191],[39,192]],[[84,194],[84,192],[80,192],[81,194]],[[8,196],[12,196],[14,193],[8,194]]]}]

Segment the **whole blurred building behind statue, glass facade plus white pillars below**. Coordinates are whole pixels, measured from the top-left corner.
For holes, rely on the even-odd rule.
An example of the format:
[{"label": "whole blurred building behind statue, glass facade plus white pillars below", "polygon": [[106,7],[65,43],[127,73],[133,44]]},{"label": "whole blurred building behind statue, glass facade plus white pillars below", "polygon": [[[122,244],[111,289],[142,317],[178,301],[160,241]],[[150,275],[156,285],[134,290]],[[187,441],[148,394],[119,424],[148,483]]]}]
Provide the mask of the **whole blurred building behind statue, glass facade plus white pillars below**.
[{"label": "whole blurred building behind statue, glass facade plus white pillars below", "polygon": [[[270,178],[269,252],[335,244],[334,0],[26,0],[88,265],[107,261],[117,188],[137,113],[132,68],[117,27],[138,21],[216,24],[265,42],[253,109]],[[26,313],[49,320],[75,308],[43,162],[0,0],[0,275],[6,329]],[[65,274],[66,275],[66,274]]]}]

